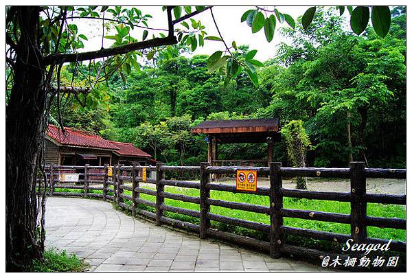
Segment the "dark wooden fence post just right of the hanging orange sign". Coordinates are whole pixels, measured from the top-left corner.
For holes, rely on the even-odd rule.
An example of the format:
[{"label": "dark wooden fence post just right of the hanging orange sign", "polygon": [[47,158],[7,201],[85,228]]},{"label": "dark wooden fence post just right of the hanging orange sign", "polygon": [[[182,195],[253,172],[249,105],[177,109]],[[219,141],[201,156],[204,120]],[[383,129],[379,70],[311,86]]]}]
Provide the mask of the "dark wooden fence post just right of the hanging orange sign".
[{"label": "dark wooden fence post just right of the hanging orange sign", "polygon": [[283,216],[280,214],[283,208],[282,176],[279,168],[282,167],[281,162],[272,162],[269,165],[271,175],[271,189],[269,200],[271,201],[271,243],[270,253],[271,257],[279,258],[282,253],[283,236],[280,228],[283,225]]}]

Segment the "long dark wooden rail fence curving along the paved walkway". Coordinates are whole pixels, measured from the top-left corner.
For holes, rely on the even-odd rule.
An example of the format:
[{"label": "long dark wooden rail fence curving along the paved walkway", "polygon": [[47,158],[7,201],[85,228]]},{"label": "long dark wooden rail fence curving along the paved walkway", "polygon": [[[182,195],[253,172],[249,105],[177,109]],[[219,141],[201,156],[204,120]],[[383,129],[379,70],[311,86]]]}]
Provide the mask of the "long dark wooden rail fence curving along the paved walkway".
[{"label": "long dark wooden rail fence curving along the paved walkway", "polygon": [[[201,166],[168,166],[163,163],[157,163],[156,166],[146,166],[146,171],[156,172],[156,178],[147,178],[146,183],[152,183],[155,190],[141,188],[139,183],[142,182],[141,170],[143,166],[137,163],[133,166],[116,165],[113,167],[113,176],[108,176],[108,165],[104,166],[47,166],[48,178],[51,186],[49,194],[51,196],[83,196],[96,197],[102,200],[112,200],[123,207],[130,209],[133,215],[140,214],[147,218],[155,220],[157,225],[168,224],[172,227],[189,230],[198,233],[201,238],[218,238],[236,244],[258,248],[260,251],[266,251],[272,257],[280,257],[282,253],[293,253],[305,255],[312,258],[323,258],[325,252],[286,244],[284,242],[286,235],[297,235],[316,240],[327,240],[331,242],[346,242],[353,239],[354,243],[379,243],[385,244],[388,240],[380,238],[368,238],[367,227],[407,229],[406,219],[400,218],[381,218],[367,216],[367,203],[406,205],[406,195],[391,194],[367,194],[366,178],[406,178],[406,169],[377,169],[366,168],[362,162],[352,162],[349,168],[295,168],[282,167],[282,163],[271,163],[270,167],[228,167],[228,166],[210,166],[208,163],[201,163]],[[83,170],[81,178],[76,184],[66,184],[58,181],[59,170]],[[101,173],[95,171],[100,169]],[[256,192],[238,191],[234,185],[224,185],[221,183],[212,183],[211,174],[236,174],[237,170],[256,170],[258,176],[270,176],[270,188],[258,187]],[[165,173],[168,172],[190,172],[200,174],[200,181],[175,181],[165,179]],[[282,187],[282,178],[297,176],[306,177],[323,177],[323,178],[348,178],[350,179],[350,192],[316,192],[299,189],[286,189]],[[97,179],[96,177],[100,177]],[[39,180],[41,181],[41,180]],[[126,184],[125,184],[126,183]],[[96,186],[97,185],[97,186]],[[171,194],[165,192],[165,185],[174,187],[185,187],[199,190],[199,197],[185,196],[183,194]],[[82,189],[79,192],[56,192],[56,189]],[[92,193],[92,190],[101,190],[102,193]],[[131,195],[125,194],[124,190],[132,192]],[[242,194],[257,194],[268,196],[268,206],[251,205],[247,203],[228,202],[225,200],[216,200],[210,198],[210,191],[224,191]],[[141,198],[140,194],[155,196],[155,202]],[[301,209],[285,209],[283,207],[284,197],[307,198],[314,200],[332,200],[340,202],[350,202],[350,214],[330,213],[323,211],[308,211]],[[181,207],[171,207],[165,205],[165,198],[180,200],[183,202],[192,202],[200,206],[199,211],[183,209]],[[132,205],[127,205],[125,200],[130,200]],[[145,209],[138,209],[138,205],[143,204],[155,209],[155,213]],[[225,207],[229,209],[238,209],[242,211],[251,211],[253,213],[264,213],[270,216],[271,224],[242,220],[221,216],[210,212],[210,206]],[[199,224],[184,222],[181,220],[168,218],[165,211],[183,214],[199,218]],[[310,229],[301,229],[298,227],[288,227],[284,225],[284,218],[301,218],[305,220],[317,220],[326,222],[337,222],[350,224],[351,234],[332,233],[326,231],[317,231]],[[211,228],[211,220],[232,224],[255,231],[262,231],[270,235],[270,241],[249,238],[243,235],[219,231]],[[392,251],[406,252],[406,242],[391,242]]]}]

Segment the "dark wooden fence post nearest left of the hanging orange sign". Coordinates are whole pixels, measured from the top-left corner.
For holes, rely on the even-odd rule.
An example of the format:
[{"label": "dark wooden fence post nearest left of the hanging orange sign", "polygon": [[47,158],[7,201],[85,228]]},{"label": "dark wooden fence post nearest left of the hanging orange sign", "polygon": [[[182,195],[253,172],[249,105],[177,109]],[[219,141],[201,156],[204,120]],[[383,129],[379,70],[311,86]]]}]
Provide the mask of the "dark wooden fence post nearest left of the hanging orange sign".
[{"label": "dark wooden fence post nearest left of the hanging orange sign", "polygon": [[206,172],[206,167],[209,163],[201,163],[201,187],[200,187],[200,207],[201,207],[201,224],[199,229],[199,236],[201,239],[207,238],[207,230],[210,228],[210,219],[207,213],[210,211],[210,205],[207,200],[210,198],[210,190],[207,189],[207,183],[210,182],[210,175]]}]

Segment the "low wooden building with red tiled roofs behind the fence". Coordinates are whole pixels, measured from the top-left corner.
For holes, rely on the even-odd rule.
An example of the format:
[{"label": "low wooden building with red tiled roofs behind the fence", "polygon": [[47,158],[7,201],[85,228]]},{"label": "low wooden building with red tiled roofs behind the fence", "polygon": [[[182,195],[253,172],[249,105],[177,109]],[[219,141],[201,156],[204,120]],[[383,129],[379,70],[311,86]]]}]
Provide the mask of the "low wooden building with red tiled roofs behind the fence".
[{"label": "low wooden building with red tiled roofs behind the fence", "polygon": [[89,132],[65,128],[65,132],[49,125],[45,140],[47,165],[94,165],[104,164],[142,165],[152,163],[152,156],[136,148],[132,143],[108,141]]}]

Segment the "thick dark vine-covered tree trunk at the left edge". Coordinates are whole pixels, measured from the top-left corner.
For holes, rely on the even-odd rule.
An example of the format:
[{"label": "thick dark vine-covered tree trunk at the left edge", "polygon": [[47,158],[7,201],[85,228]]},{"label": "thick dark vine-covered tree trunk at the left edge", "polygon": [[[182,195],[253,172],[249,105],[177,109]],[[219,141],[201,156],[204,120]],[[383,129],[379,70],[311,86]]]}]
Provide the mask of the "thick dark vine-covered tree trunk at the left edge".
[{"label": "thick dark vine-covered tree trunk at the left edge", "polygon": [[37,42],[39,8],[23,6],[17,10],[21,37],[5,116],[7,271],[30,270],[33,259],[43,253],[36,236],[35,192],[46,100],[45,69]]}]

